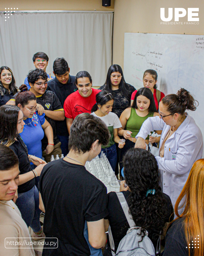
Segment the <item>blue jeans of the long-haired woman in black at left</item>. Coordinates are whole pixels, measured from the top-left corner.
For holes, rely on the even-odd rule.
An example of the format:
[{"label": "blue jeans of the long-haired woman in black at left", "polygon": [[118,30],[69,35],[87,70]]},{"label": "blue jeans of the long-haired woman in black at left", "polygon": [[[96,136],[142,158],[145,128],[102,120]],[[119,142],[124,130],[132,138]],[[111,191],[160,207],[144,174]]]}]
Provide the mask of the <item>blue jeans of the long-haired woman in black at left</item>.
[{"label": "blue jeans of the long-haired woman in black at left", "polygon": [[41,229],[41,210],[39,209],[39,192],[37,187],[34,186],[27,192],[19,193],[16,205],[18,206],[22,218],[27,226],[30,226],[34,232],[38,232]]}]

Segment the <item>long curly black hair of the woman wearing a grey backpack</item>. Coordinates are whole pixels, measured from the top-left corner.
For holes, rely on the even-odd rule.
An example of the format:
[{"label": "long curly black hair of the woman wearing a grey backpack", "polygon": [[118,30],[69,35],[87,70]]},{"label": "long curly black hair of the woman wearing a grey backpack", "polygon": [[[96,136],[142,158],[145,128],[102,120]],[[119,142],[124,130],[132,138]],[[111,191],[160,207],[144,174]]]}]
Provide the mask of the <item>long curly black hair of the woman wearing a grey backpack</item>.
[{"label": "long curly black hair of the woman wearing a grey backpack", "polygon": [[[164,207],[167,201],[159,186],[156,158],[145,149],[132,148],[125,154],[123,165],[125,181],[131,190],[128,197],[129,210],[136,225],[142,228],[142,240],[146,230],[161,235],[167,217],[167,209]],[[146,197],[148,189],[155,189],[155,194]]]}]

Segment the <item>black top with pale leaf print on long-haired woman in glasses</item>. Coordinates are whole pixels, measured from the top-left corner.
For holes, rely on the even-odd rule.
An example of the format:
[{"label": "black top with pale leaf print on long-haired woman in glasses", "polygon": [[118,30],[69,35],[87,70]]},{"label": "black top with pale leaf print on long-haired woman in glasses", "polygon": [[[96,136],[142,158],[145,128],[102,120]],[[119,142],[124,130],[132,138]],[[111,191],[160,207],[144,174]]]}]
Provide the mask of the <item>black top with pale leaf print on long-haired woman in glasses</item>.
[{"label": "black top with pale leaf print on long-haired woman in glasses", "polygon": [[[133,91],[135,91],[135,87],[132,85],[129,85],[128,83],[125,84],[128,92],[129,92],[129,99],[131,98],[131,95]],[[103,91],[105,90],[105,85],[102,85],[99,90]],[[124,93],[117,89],[111,92],[114,97],[113,102],[113,108],[112,111],[115,113],[119,118],[122,112],[130,106],[130,100],[127,99],[127,97],[124,95]]]}]

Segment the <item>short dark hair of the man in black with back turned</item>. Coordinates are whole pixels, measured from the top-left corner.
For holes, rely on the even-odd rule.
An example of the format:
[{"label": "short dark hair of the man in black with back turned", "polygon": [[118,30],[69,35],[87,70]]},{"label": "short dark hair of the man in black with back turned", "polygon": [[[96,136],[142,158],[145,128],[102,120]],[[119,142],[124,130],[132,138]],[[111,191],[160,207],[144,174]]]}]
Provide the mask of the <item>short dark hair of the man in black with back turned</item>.
[{"label": "short dark hair of the man in black with back turned", "polygon": [[77,153],[90,151],[92,144],[98,139],[99,144],[108,145],[111,137],[108,127],[98,117],[83,113],[74,119],[69,135],[69,150]]}]

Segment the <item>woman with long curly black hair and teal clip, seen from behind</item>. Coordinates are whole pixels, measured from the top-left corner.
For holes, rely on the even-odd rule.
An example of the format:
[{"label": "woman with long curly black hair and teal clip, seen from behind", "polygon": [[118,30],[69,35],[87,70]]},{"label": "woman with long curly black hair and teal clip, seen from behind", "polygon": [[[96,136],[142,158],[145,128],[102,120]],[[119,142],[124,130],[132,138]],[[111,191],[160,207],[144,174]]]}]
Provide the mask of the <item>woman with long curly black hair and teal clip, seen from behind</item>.
[{"label": "woman with long curly black hair and teal clip, seen from behind", "polygon": [[[162,193],[159,186],[157,161],[154,155],[147,150],[132,148],[125,154],[123,165],[125,181],[121,182],[120,191],[128,203],[135,225],[141,227],[142,237],[145,236],[147,230],[148,237],[155,247],[155,255],[160,255],[159,250],[156,253],[159,235],[163,234],[163,230],[168,226],[166,222],[173,220],[174,214],[170,197]],[[125,182],[128,185],[126,188]],[[148,193],[151,190],[155,194]],[[111,226],[116,253],[121,239],[126,235],[130,226],[115,192],[108,193],[108,216],[104,221],[106,231],[108,231],[108,226]],[[104,256],[111,255],[108,239]]]}]

